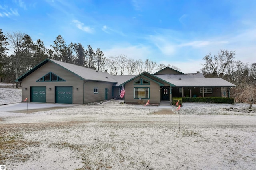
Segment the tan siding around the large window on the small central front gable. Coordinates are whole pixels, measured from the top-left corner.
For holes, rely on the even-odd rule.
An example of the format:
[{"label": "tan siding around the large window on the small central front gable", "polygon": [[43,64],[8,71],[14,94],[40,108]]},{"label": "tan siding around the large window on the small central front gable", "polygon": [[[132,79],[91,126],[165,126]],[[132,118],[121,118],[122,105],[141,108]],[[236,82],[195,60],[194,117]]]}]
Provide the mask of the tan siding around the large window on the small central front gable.
[{"label": "tan siding around the large window on the small central front gable", "polygon": [[[138,79],[138,78],[137,78]],[[142,99],[144,103],[146,103],[148,100],[150,100],[150,104],[159,104],[160,103],[160,86],[158,83],[147,80],[144,78],[144,80],[147,80],[150,82],[150,85],[134,85],[134,81],[137,79],[133,79],[130,82],[125,84],[125,103],[134,103],[138,104],[139,99],[134,98],[134,87],[145,87],[149,88],[149,99]]]}]

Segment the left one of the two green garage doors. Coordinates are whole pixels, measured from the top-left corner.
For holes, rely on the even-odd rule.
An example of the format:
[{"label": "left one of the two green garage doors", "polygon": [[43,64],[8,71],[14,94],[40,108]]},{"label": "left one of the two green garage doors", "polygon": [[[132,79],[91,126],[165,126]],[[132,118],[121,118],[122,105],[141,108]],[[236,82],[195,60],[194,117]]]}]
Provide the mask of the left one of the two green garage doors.
[{"label": "left one of the two green garage doors", "polygon": [[31,100],[30,102],[42,102],[45,103],[45,87],[31,87]]}]

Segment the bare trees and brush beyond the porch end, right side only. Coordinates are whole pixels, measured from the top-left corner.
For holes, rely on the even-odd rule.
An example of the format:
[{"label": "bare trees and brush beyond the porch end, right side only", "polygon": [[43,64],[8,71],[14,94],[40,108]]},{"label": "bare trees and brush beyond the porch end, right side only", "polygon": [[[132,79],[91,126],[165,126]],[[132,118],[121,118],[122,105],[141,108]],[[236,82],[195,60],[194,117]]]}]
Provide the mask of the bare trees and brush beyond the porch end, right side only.
[{"label": "bare trees and brush beyond the porch end, right side only", "polygon": [[205,77],[220,77],[232,82],[230,96],[236,102],[248,102],[249,108],[256,103],[256,63],[249,64],[236,60],[236,51],[220,50],[216,55],[208,53],[202,63]]}]

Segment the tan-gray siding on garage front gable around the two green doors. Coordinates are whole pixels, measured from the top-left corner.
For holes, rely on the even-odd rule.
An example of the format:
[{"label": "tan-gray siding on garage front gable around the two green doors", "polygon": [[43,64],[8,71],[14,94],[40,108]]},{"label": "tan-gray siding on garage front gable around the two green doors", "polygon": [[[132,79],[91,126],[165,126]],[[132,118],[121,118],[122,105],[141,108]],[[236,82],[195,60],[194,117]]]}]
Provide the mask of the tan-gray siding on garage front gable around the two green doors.
[{"label": "tan-gray siding on garage front gable around the two green doors", "polygon": [[[60,76],[66,81],[36,82],[49,72]],[[48,62],[22,80],[22,101],[28,98],[28,102],[30,102],[30,87],[32,86],[46,86],[46,103],[55,102],[55,86],[72,86],[73,104],[83,104],[83,80],[57,64]],[[27,88],[27,90],[24,90],[25,88]],[[49,90],[49,88],[51,88],[51,90]],[[78,90],[76,90],[76,88],[78,88]]]}]

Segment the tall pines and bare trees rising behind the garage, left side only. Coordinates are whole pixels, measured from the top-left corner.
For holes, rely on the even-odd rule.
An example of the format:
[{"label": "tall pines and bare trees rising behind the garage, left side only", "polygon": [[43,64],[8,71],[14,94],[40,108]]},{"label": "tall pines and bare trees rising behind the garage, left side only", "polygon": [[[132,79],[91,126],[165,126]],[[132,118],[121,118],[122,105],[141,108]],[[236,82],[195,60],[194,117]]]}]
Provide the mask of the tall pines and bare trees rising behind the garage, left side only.
[{"label": "tall pines and bare trees rising behind the garage, left side only", "polygon": [[134,60],[122,54],[105,57],[100,48],[94,51],[91,45],[88,45],[87,49],[81,43],[71,42],[67,45],[61,35],[56,37],[50,47],[47,49],[41,39],[33,42],[26,33],[4,34],[0,29],[0,82],[14,82],[46,58],[108,72],[112,75],[135,75],[144,71],[154,73],[166,66],[180,70],[170,64],[157,64],[150,59]]}]

